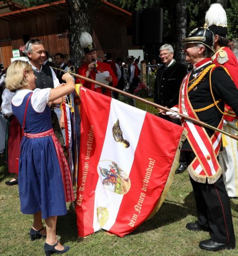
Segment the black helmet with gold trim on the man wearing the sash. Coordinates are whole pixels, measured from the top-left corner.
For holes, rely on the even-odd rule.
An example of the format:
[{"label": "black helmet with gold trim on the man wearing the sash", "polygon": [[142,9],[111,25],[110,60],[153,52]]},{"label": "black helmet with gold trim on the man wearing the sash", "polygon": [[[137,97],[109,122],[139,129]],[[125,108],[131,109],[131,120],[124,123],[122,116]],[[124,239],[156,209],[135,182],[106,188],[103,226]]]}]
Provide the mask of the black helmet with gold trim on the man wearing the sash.
[{"label": "black helmet with gold trim on the man wearing the sash", "polygon": [[182,40],[183,44],[200,43],[206,45],[214,52],[214,34],[207,28],[196,28],[191,31],[188,37]]}]

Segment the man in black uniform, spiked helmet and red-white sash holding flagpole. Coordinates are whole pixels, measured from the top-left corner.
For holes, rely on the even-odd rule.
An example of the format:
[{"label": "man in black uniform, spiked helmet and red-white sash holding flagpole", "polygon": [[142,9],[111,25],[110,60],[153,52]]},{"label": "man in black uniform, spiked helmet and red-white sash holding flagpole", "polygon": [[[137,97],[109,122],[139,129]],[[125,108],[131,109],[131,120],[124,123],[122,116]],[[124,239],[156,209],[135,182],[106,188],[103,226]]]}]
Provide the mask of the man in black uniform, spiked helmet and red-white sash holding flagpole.
[{"label": "man in black uniform, spiked helmet and red-white sash holding flagpole", "polygon": [[[179,112],[211,126],[223,126],[225,102],[238,114],[238,90],[223,67],[211,63],[214,35],[209,29],[194,29],[183,43],[185,60],[193,70],[181,85]],[[177,113],[167,112],[171,117]],[[209,230],[211,238],[199,243],[201,249],[217,251],[235,248],[230,199],[226,193],[217,155],[221,134],[182,119],[188,131],[183,143],[190,180],[196,200],[198,221],[188,223],[190,230]]]}]

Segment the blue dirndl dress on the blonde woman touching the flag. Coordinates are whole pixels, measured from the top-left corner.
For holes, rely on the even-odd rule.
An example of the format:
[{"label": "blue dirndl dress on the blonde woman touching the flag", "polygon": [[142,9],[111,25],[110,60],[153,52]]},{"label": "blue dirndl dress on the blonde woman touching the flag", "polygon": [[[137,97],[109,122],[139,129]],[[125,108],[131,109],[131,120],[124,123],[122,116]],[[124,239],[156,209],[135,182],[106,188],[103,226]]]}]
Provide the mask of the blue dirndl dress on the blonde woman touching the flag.
[{"label": "blue dirndl dress on the blonde woman touching the flag", "polygon": [[[12,104],[13,113],[23,126],[24,112],[31,92],[27,93],[20,106]],[[48,105],[42,113],[35,111],[29,100],[25,118],[25,133],[41,133],[52,129],[51,111]],[[42,218],[67,213],[60,164],[51,136],[40,138],[23,137],[19,158],[19,196],[21,212]]]}]

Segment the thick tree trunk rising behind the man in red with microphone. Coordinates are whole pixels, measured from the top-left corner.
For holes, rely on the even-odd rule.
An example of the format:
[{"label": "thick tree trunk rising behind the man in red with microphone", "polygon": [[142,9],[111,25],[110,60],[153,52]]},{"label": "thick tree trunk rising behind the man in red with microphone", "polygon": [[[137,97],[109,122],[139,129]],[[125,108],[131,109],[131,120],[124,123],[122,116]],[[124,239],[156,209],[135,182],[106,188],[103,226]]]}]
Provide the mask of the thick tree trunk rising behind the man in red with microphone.
[{"label": "thick tree trunk rising behind the man in red with microphone", "polygon": [[[90,22],[89,0],[67,0],[69,11],[69,41],[70,56],[73,60],[75,68],[80,65],[80,60],[84,55],[83,49],[79,44],[79,37],[82,31],[87,31],[92,35],[92,27]],[[76,70],[77,71],[77,70]]]}]

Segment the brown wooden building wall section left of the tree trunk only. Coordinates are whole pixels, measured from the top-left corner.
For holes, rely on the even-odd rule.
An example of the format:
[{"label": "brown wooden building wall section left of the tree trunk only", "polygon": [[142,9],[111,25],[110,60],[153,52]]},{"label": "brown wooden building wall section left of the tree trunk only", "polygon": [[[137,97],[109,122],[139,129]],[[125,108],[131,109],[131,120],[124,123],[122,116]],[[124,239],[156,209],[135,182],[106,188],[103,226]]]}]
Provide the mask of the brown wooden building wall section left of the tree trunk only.
[{"label": "brown wooden building wall section left of the tree trunk only", "polygon": [[[65,12],[24,16],[24,19],[4,21],[4,26],[0,27],[0,46],[4,67],[8,67],[11,63],[12,50],[19,49],[21,45],[24,45],[24,35],[25,37],[29,36],[30,39],[42,40],[46,51],[51,56],[61,52],[69,57],[67,28]],[[21,55],[23,54],[21,53]]]}]

